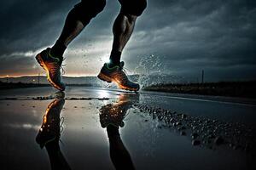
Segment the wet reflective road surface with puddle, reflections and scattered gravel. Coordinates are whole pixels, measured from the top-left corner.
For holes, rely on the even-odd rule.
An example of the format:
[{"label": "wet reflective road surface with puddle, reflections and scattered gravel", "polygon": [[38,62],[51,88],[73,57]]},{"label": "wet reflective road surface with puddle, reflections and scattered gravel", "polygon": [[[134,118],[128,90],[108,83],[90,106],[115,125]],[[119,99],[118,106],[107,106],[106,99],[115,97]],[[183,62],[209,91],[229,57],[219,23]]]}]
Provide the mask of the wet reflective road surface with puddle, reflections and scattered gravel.
[{"label": "wet reflective road surface with puddle, reflections and scattered gravel", "polygon": [[256,102],[99,88],[1,91],[1,169],[255,169]]}]

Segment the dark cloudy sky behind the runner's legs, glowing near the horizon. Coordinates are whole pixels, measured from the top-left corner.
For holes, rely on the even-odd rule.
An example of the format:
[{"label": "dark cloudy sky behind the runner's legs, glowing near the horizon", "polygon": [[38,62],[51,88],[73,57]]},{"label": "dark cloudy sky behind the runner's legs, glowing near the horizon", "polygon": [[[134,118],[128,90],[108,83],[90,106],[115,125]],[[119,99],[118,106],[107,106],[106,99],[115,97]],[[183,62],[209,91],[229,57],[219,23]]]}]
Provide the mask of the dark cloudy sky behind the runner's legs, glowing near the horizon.
[{"label": "dark cloudy sky behind the runner's legs, glowing near the horizon", "polygon": [[[55,42],[67,12],[78,2],[1,1],[0,76],[43,73],[34,55]],[[107,2],[68,47],[67,76],[96,75],[108,59],[119,3]],[[137,67],[142,64],[147,67],[143,71],[188,79],[198,78],[201,69],[207,81],[253,79],[255,25],[255,0],[148,0],[122,59],[131,73],[142,71]]]}]

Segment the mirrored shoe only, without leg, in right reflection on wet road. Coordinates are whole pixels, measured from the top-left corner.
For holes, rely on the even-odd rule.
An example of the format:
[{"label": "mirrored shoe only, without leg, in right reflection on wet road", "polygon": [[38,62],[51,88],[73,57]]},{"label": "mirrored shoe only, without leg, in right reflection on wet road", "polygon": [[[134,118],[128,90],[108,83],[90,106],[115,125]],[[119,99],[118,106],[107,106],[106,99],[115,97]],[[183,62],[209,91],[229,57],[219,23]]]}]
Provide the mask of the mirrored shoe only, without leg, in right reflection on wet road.
[{"label": "mirrored shoe only, without leg, in right reflection on wet road", "polygon": [[117,103],[102,106],[100,109],[100,122],[102,127],[113,125],[115,127],[124,127],[126,112],[131,109],[132,105],[137,103],[138,94],[121,94]]}]

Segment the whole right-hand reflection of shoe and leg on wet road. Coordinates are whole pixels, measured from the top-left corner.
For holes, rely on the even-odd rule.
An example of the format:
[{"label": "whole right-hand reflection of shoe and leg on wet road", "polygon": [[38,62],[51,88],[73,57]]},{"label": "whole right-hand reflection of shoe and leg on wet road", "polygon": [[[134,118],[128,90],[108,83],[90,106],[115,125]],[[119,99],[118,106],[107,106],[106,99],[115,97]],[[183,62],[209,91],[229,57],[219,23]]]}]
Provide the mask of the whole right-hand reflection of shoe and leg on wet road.
[{"label": "whole right-hand reflection of shoe and leg on wet road", "polygon": [[103,128],[107,127],[110,157],[116,169],[135,169],[120,138],[119,127],[125,126],[123,120],[126,112],[138,99],[138,94],[121,94],[117,103],[104,105],[100,109],[100,122]]}]

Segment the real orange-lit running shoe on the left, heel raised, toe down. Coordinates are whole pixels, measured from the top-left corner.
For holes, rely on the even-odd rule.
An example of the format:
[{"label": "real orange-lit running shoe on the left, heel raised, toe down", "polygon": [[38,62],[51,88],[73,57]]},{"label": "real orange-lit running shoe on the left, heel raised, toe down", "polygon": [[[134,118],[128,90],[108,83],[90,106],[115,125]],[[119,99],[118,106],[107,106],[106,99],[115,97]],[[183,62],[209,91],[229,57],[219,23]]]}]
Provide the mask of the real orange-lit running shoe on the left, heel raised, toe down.
[{"label": "real orange-lit running shoe on the left, heel raised, toe down", "polygon": [[41,53],[37,54],[38,63],[47,72],[47,80],[52,86],[58,90],[64,91],[65,84],[61,81],[61,58],[55,58],[49,54],[50,48],[46,48]]}]

